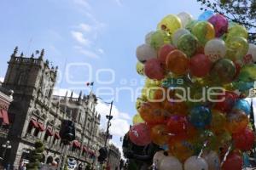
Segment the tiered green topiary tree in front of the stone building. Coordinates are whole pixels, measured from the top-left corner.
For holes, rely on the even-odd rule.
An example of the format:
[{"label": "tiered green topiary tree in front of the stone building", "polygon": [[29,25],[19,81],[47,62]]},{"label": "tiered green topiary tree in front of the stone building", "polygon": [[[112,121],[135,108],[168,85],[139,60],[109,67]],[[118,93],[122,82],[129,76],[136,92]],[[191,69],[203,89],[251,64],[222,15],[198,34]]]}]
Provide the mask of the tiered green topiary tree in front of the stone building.
[{"label": "tiered green topiary tree in front of the stone building", "polygon": [[41,141],[35,143],[35,149],[30,152],[27,170],[38,170],[39,162],[43,159],[44,144]]}]

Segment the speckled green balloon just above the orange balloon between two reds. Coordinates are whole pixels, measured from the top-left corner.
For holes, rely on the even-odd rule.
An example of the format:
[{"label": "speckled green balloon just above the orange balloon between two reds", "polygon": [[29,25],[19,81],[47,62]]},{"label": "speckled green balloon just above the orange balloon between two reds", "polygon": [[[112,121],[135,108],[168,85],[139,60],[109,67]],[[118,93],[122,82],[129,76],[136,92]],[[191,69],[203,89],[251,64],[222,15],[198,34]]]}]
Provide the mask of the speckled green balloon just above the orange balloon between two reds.
[{"label": "speckled green balloon just above the orange balloon between two reds", "polygon": [[177,41],[177,48],[192,57],[198,47],[198,40],[192,34],[185,34]]}]

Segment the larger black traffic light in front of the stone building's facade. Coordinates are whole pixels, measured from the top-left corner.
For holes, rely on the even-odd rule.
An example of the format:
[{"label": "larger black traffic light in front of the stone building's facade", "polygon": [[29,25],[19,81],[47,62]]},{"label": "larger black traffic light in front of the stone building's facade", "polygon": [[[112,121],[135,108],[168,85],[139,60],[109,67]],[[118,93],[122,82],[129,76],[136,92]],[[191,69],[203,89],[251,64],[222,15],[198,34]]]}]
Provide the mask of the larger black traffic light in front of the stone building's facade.
[{"label": "larger black traffic light in front of the stone building's facade", "polygon": [[75,126],[72,121],[63,120],[61,123],[60,136],[64,144],[68,144],[76,137]]}]

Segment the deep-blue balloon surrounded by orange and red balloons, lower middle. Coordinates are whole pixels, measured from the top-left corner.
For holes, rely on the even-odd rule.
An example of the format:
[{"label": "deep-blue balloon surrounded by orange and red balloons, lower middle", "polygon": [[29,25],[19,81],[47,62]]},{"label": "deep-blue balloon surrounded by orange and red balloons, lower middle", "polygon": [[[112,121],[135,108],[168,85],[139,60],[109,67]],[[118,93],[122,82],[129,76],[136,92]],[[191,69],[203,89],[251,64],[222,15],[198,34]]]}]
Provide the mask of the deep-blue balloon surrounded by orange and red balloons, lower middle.
[{"label": "deep-blue balloon surrounded by orange and red balloons, lower middle", "polygon": [[189,122],[197,128],[204,128],[212,121],[212,113],[206,107],[197,105],[190,110]]}]

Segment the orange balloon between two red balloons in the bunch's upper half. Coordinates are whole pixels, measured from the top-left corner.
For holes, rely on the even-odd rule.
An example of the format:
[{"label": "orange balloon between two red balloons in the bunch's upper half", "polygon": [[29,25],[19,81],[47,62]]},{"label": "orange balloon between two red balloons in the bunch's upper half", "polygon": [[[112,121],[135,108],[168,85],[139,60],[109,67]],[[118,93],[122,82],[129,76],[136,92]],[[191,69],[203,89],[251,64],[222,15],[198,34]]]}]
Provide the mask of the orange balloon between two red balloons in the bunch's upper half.
[{"label": "orange balloon between two red balloons in the bunch's upper half", "polygon": [[189,70],[189,59],[180,50],[173,50],[166,58],[166,68],[177,75],[184,75]]}]

